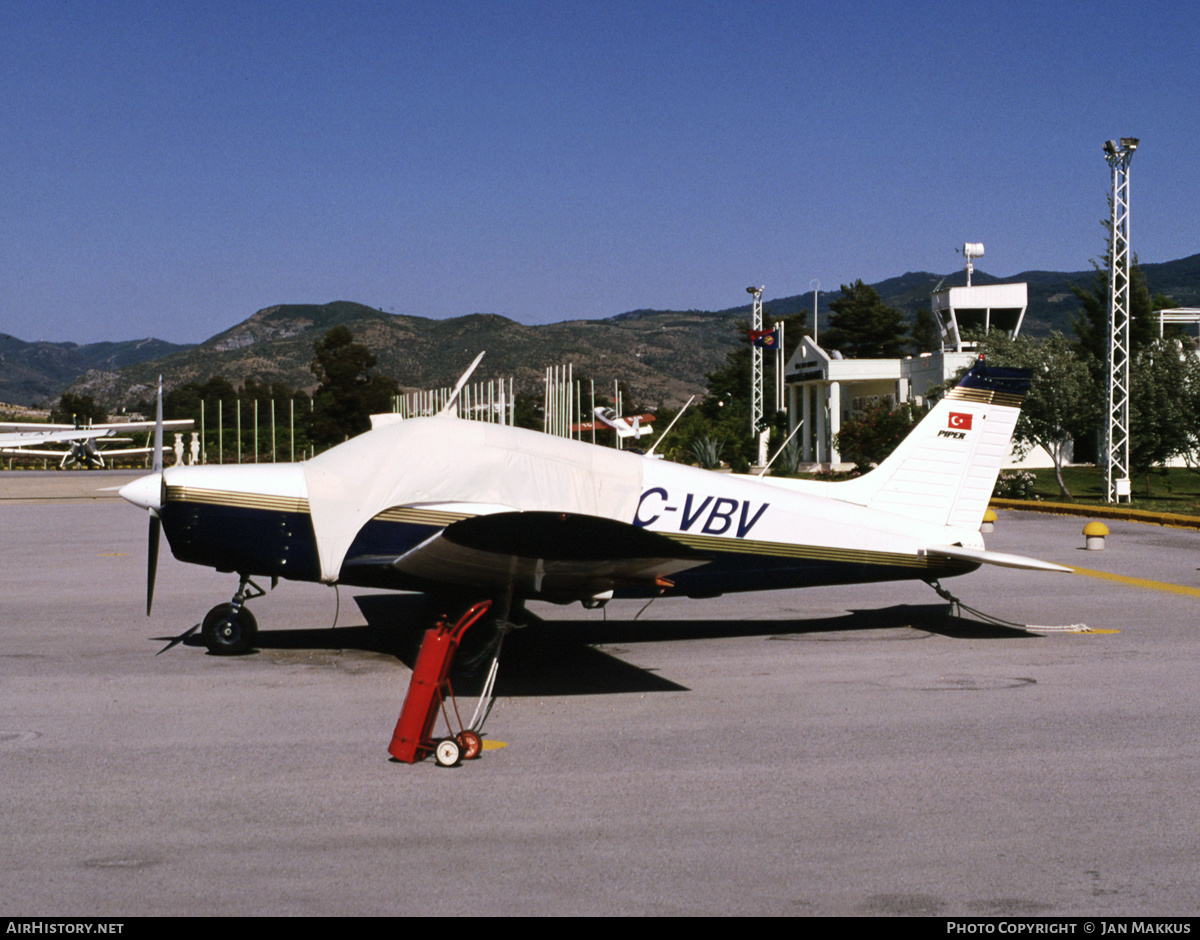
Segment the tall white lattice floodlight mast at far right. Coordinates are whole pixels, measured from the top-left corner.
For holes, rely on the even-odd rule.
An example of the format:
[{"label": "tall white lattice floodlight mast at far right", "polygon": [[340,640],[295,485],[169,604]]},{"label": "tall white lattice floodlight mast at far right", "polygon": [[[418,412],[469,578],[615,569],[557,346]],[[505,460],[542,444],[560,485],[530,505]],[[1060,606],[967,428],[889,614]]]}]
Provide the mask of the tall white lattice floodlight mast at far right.
[{"label": "tall white lattice floodlight mast at far right", "polygon": [[1112,218],[1109,243],[1108,424],[1104,430],[1104,499],[1130,499],[1129,484],[1129,162],[1136,137],[1105,140],[1112,170]]}]

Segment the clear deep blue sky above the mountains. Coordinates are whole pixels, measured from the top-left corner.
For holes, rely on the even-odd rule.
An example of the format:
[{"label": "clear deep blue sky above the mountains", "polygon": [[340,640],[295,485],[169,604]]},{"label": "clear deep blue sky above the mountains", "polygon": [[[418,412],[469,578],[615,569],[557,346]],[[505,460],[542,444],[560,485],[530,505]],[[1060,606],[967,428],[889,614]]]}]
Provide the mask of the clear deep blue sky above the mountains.
[{"label": "clear deep blue sky above the mountains", "polygon": [[522,323],[1200,252],[1194,2],[0,5],[0,333]]}]

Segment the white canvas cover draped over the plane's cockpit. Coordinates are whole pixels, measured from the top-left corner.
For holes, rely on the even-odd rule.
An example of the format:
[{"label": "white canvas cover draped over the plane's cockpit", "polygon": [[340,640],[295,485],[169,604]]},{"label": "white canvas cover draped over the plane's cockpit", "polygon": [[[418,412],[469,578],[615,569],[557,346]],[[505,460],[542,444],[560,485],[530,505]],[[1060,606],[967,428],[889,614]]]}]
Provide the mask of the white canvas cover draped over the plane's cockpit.
[{"label": "white canvas cover draped over the plane's cockpit", "polygon": [[394,507],[466,504],[455,509],[580,513],[632,522],[643,461],[446,415],[384,425],[304,466],[322,580],[332,582],[359,531]]}]

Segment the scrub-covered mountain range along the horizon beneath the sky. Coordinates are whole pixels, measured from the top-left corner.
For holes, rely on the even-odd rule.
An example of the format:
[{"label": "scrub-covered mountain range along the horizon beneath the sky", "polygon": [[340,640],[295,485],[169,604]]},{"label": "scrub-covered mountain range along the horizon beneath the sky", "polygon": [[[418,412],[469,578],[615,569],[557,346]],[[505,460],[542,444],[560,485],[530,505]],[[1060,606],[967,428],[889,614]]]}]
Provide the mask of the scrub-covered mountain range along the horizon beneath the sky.
[{"label": "scrub-covered mountain range along the horizon beneath the sky", "polygon": [[[1152,294],[1165,294],[1182,306],[1200,306],[1200,255],[1162,264],[1142,264]],[[1024,333],[1050,330],[1072,334],[1079,303],[1070,286],[1094,288],[1096,271],[1025,271],[996,279],[976,271],[977,285],[1025,281],[1030,306]],[[911,322],[929,307],[930,293],[941,285],[965,283],[965,273],[908,273],[872,285],[890,306]],[[840,292],[818,295],[824,329],[829,301]],[[764,303],[768,317],[806,312],[812,294]],[[737,348],[737,323],[750,317],[750,305],[718,311],[635,310],[607,319],[576,319],[524,325],[494,313],[427,319],[386,313],[350,301],[286,304],[259,310],[247,319],[194,346],[163,340],[130,340],[77,345],[23,342],[0,334],[0,401],[31,406],[55,400],[64,391],[92,395],[115,411],[152,394],[157,376],[166,387],[204,382],[221,375],[234,384],[247,378],[282,382],[293,388],[316,385],[308,364],[313,342],[331,327],[344,324],[374,353],[377,370],[408,389],[454,383],[480,349],[487,355],[478,381],[512,377],[527,391],[540,388],[547,366],[572,364],[575,376],[587,376],[601,388],[613,379],[626,384],[644,407],[679,405],[704,390],[704,377]]]}]

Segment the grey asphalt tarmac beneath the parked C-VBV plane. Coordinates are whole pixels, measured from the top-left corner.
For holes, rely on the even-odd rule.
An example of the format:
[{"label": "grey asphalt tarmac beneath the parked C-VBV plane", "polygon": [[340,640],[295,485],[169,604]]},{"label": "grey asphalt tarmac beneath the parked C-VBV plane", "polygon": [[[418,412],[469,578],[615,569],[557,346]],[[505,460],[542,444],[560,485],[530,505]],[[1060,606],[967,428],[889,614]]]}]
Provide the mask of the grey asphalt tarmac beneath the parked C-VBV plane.
[{"label": "grey asphalt tarmac beneath the parked C-VBV plane", "polygon": [[1156,583],[947,581],[1090,634],[919,582],[532,605],[446,770],[388,759],[403,597],[282,582],[259,652],[156,657],[235,579],[164,543],[148,618],[120,481],[0,474],[5,915],[1200,911],[1195,532],[1006,511],[991,549]]}]

